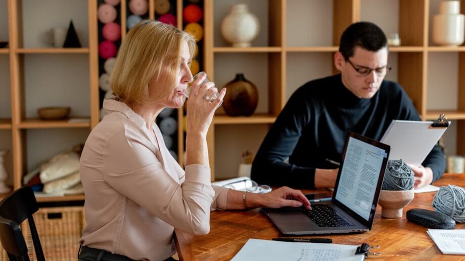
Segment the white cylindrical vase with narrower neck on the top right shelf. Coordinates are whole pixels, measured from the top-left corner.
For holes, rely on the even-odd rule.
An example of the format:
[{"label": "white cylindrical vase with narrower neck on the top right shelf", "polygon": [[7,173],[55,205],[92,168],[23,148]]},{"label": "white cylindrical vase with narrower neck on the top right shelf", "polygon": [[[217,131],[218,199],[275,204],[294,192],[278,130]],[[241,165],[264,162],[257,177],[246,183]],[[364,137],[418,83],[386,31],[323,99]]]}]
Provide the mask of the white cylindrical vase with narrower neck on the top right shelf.
[{"label": "white cylindrical vase with narrower neck on the top right shelf", "polygon": [[433,42],[457,46],[463,43],[465,16],[459,14],[460,1],[442,1],[439,14],[433,17]]}]

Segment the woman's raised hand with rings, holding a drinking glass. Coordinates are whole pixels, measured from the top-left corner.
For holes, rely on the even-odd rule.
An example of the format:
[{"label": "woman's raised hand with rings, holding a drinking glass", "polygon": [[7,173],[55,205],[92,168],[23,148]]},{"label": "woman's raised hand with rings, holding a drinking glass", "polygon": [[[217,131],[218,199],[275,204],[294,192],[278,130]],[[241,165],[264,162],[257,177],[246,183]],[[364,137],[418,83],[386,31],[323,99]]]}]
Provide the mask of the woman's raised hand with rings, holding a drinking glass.
[{"label": "woman's raised hand with rings, holding a drinking glass", "polygon": [[204,73],[192,82],[191,93],[187,101],[186,116],[188,132],[199,133],[205,137],[215,110],[226,94],[226,88],[223,88],[215,100],[207,100],[206,97],[212,97],[218,90],[215,88],[215,83],[213,82],[200,85],[206,77],[207,75]]}]

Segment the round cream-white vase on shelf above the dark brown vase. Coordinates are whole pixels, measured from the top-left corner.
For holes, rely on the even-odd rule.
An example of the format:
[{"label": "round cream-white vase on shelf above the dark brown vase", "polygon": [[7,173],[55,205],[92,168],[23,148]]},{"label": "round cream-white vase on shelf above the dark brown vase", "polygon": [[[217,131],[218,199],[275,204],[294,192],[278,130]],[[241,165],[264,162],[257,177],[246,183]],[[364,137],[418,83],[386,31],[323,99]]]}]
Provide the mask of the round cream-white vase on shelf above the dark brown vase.
[{"label": "round cream-white vase on shelf above the dark brown vase", "polygon": [[259,31],[258,18],[249,12],[247,4],[232,5],[221,22],[221,35],[234,47],[250,47]]}]

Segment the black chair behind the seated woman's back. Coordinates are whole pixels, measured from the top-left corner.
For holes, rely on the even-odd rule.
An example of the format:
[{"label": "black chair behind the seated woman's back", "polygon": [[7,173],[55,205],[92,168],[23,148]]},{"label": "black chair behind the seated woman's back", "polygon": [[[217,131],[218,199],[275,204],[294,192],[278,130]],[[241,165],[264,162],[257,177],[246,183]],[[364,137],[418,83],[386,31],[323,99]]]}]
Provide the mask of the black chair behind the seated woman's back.
[{"label": "black chair behind the seated woman's back", "polygon": [[29,260],[26,240],[19,225],[27,219],[37,260],[45,260],[32,214],[37,212],[34,192],[23,186],[0,202],[0,241],[10,260]]}]

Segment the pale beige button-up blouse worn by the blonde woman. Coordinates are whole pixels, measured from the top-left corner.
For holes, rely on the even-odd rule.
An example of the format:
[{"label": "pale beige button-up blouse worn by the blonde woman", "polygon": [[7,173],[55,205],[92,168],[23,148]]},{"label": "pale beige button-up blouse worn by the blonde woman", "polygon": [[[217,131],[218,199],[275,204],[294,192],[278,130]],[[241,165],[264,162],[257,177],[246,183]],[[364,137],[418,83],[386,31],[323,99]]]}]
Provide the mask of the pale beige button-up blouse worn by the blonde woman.
[{"label": "pale beige button-up blouse worn by the blonde woman", "polygon": [[174,227],[210,229],[210,211],[224,209],[228,189],[212,187],[210,168],[179,166],[157,125],[125,103],[105,100],[109,114],[92,130],[80,159],[85,220],[80,243],[132,259],[163,260],[175,253]]}]

